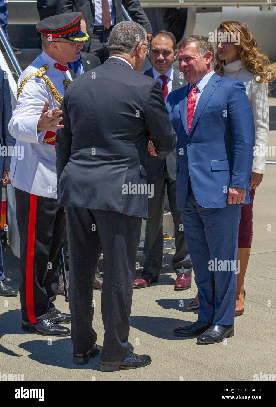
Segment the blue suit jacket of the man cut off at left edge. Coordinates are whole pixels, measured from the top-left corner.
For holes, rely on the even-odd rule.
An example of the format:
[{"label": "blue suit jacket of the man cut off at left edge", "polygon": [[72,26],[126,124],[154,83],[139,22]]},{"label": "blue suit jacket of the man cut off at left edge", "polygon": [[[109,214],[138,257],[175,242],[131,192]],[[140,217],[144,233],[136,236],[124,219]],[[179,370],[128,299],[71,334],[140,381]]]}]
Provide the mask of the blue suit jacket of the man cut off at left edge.
[{"label": "blue suit jacket of the man cut off at left edge", "polygon": [[[2,116],[2,126],[0,127],[0,142],[2,146],[14,146],[15,138],[13,138],[8,130],[8,124],[11,120],[11,94],[9,88],[9,79],[5,79],[7,72],[0,69],[0,114]],[[2,151],[1,151],[2,152]],[[2,178],[3,171],[9,170],[11,164],[11,156],[4,155],[4,151],[0,154],[0,174]]]}]

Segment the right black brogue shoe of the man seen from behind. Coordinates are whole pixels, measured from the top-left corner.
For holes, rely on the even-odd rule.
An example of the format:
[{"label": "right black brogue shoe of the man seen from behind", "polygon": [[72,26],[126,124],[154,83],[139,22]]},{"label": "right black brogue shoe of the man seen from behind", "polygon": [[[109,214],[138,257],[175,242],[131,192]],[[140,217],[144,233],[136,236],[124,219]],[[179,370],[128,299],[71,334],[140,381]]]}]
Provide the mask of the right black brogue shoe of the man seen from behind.
[{"label": "right black brogue shoe of the man seen from behind", "polygon": [[151,364],[151,357],[149,355],[138,355],[129,350],[127,356],[122,361],[111,363],[100,362],[100,370],[101,372],[115,372],[119,369],[143,368],[149,364]]}]

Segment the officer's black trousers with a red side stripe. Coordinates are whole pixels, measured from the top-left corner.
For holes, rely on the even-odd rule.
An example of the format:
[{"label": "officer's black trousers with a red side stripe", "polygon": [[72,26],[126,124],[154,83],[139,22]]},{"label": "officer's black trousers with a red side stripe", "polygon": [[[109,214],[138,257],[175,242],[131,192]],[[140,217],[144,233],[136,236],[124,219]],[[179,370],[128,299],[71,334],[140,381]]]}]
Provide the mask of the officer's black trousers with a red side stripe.
[{"label": "officer's black trousers with a red side stripe", "polygon": [[64,210],[57,199],[15,188],[20,237],[20,301],[22,320],[35,324],[55,309],[62,248]]}]

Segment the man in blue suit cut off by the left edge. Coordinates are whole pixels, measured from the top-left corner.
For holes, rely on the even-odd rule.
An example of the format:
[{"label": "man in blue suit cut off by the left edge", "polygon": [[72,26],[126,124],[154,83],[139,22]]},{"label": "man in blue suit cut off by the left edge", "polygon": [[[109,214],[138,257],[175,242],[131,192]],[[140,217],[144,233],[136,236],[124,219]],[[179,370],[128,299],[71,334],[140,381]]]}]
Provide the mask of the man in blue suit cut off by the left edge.
[{"label": "man in blue suit cut off by the left edge", "polygon": [[[8,75],[7,72],[0,69],[0,117],[2,119],[2,126],[0,126],[0,174],[2,174],[2,179],[0,180],[0,202],[2,201],[2,183],[11,183],[9,179],[11,155],[8,155],[9,149],[7,149],[7,154],[5,150],[2,149],[2,146],[9,147],[14,146],[15,144],[15,139],[11,137],[8,130],[11,112],[11,95]],[[2,260],[2,244],[0,243],[0,295],[8,296],[15,294],[17,294],[17,291],[9,287],[5,280]]]}]

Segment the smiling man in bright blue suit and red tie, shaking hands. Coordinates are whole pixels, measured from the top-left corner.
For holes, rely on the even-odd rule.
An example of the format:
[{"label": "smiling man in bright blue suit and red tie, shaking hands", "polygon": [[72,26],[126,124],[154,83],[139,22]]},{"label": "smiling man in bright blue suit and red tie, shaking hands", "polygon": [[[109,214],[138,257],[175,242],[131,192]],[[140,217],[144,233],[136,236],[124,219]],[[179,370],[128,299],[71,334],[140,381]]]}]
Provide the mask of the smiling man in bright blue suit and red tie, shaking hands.
[{"label": "smiling man in bright blue suit and red tie, shaking hands", "polygon": [[166,106],[178,137],[177,207],[199,314],[174,333],[209,344],[234,335],[237,237],[241,205],[250,202],[254,117],[243,83],[214,72],[207,37],[184,37],[178,50],[189,85],[171,92]]}]

